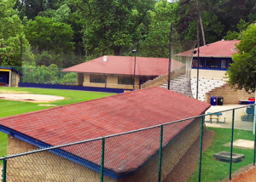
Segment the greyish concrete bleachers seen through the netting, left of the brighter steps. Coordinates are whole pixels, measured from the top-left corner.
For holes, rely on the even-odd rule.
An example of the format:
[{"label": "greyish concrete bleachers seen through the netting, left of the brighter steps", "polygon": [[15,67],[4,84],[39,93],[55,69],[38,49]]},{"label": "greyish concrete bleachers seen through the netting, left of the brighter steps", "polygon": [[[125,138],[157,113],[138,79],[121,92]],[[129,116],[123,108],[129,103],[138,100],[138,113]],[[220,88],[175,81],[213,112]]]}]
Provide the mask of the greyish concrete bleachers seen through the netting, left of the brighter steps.
[{"label": "greyish concrete bleachers seen through the netting, left of the brighter steps", "polygon": [[[168,88],[168,82],[161,84],[160,87]],[[171,80],[170,89],[179,94],[184,94],[189,97],[193,97],[189,77],[185,75],[180,75],[179,77],[176,77],[173,80]]]}]

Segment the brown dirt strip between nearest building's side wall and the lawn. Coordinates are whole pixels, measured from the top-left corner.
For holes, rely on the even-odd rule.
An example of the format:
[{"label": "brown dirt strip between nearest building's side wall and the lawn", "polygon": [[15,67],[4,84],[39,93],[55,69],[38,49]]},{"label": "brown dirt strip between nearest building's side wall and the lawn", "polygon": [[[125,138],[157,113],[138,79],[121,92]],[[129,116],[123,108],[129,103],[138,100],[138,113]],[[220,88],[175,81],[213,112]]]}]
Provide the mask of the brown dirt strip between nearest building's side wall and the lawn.
[{"label": "brown dirt strip between nearest building's side wall and the lawn", "polygon": [[[203,137],[203,151],[212,144],[214,131],[206,129]],[[183,182],[189,179],[189,176],[198,168],[200,153],[200,138],[195,140],[195,143],[190,146],[189,150],[177,163],[172,172],[169,173],[163,182]]]}]

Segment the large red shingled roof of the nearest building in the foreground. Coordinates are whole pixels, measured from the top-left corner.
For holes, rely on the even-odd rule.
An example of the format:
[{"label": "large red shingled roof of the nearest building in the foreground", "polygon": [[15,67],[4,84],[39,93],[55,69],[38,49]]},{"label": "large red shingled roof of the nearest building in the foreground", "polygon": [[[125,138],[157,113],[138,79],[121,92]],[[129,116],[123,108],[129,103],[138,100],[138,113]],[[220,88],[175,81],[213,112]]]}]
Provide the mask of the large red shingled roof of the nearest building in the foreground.
[{"label": "large red shingled roof of the nearest building in the foreground", "polygon": [[[0,119],[0,125],[49,145],[61,145],[195,117],[209,107],[205,102],[165,88],[148,88],[5,117]],[[193,121],[165,126],[164,145],[190,122]],[[154,128],[106,139],[105,168],[116,173],[135,170],[159,150],[159,137],[160,128]],[[101,163],[101,141],[63,150]]]}]

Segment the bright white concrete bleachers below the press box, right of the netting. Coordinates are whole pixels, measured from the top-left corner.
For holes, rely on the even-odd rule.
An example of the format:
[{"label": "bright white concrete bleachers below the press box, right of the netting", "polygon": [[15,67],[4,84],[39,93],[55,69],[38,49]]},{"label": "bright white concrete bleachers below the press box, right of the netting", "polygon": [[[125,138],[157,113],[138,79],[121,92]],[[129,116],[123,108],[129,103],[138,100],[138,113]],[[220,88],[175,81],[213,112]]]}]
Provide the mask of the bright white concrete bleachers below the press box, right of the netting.
[{"label": "bright white concrete bleachers below the press box, right of the netting", "polygon": [[[191,90],[193,97],[196,98],[196,84],[197,79],[196,77],[193,77],[191,79]],[[213,78],[207,79],[207,78],[200,78],[198,80],[198,100],[206,101],[206,94],[214,88],[220,88],[226,83],[223,79],[222,80],[216,80]]]}]

